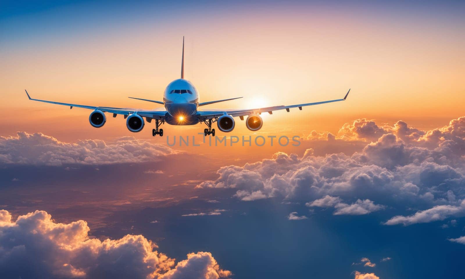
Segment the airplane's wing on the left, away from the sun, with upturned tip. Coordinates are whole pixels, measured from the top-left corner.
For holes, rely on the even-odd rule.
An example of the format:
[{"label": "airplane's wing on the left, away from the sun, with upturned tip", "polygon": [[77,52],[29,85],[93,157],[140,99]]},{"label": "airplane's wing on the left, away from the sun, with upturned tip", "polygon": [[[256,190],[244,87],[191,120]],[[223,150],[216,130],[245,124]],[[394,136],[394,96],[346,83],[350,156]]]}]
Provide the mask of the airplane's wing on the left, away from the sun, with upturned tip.
[{"label": "airplane's wing on the left, away from the sun, with upturned tip", "polygon": [[53,102],[53,101],[47,101],[47,100],[33,99],[31,98],[31,96],[29,96],[29,93],[27,93],[27,91],[26,91],[26,94],[27,94],[27,98],[33,101],[39,101],[39,102],[62,105],[62,106],[69,106],[70,108],[73,108],[73,106],[75,106],[75,107],[81,107],[81,108],[87,108],[87,109],[93,109],[93,110],[100,110],[104,113],[113,113],[114,116],[116,116],[116,114],[123,114],[125,115],[125,118],[126,118],[126,115],[129,115],[135,112],[137,112],[137,114],[142,117],[158,119],[158,120],[164,120],[166,116],[166,111],[153,111],[153,110],[120,108],[120,107],[110,107],[110,106],[86,106],[86,105],[78,105],[78,104],[68,104],[68,103],[60,103],[60,102]]}]

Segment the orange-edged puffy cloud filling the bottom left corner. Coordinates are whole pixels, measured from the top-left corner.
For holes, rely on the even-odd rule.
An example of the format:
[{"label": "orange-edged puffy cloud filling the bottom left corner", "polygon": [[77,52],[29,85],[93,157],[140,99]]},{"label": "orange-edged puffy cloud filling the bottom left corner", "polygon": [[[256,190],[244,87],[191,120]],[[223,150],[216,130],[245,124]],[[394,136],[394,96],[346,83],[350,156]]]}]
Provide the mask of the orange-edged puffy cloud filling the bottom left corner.
[{"label": "orange-edged puffy cloud filling the bottom left corner", "polygon": [[[218,279],[231,272],[219,268],[209,252],[168,258],[142,235],[91,239],[83,220],[55,223],[45,211],[21,215],[15,222],[0,211],[0,278],[148,278]],[[40,259],[40,260],[39,260]]]}]

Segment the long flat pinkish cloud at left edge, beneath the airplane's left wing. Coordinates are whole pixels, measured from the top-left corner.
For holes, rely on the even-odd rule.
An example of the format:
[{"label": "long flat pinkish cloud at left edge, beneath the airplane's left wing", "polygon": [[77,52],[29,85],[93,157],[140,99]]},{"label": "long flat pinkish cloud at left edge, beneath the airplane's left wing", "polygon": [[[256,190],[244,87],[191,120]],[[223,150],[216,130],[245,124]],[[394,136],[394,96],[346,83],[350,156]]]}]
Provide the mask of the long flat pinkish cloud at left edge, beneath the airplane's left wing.
[{"label": "long flat pinkish cloud at left edge, beneath the airplane's left wing", "polygon": [[16,137],[0,136],[0,164],[4,166],[141,163],[176,153],[179,151],[133,137],[120,138],[113,143],[103,140],[66,143],[42,133],[18,132]]}]

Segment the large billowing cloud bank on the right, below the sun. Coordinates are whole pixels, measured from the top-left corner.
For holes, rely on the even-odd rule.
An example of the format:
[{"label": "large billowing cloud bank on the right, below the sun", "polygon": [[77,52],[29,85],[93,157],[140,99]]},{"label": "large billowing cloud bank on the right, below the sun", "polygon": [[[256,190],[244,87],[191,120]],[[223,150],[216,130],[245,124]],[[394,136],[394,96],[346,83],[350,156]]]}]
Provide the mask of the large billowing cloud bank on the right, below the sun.
[{"label": "large billowing cloud bank on the right, below the sun", "polygon": [[465,205],[465,117],[442,128],[421,131],[404,121],[393,126],[359,119],[337,136],[312,132],[327,140],[364,140],[352,155],[313,156],[275,153],[244,166],[224,166],[218,179],[197,187],[233,188],[235,198],[251,201],[282,198],[307,206],[333,207],[335,215],[363,215],[392,208],[421,208],[395,216],[385,225],[411,225],[460,216]]}]

